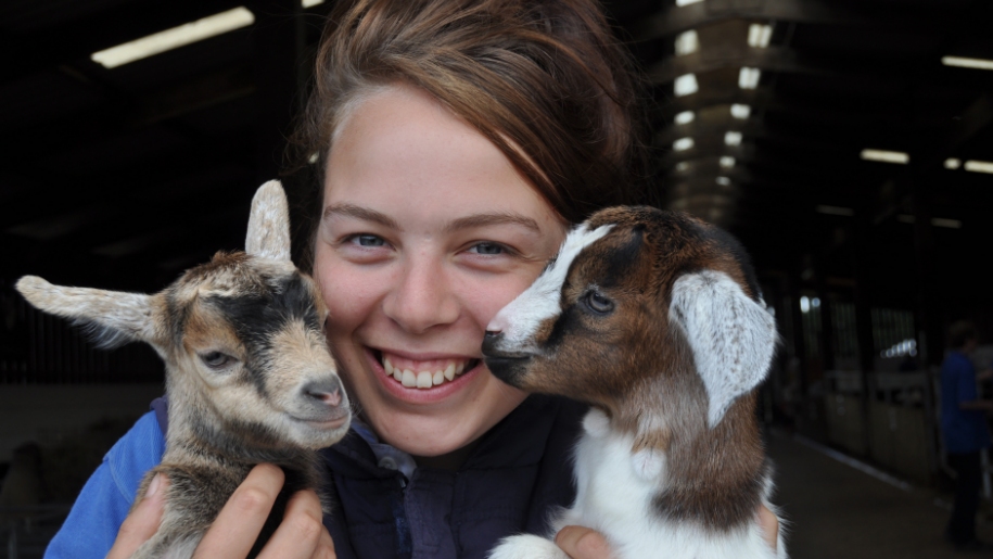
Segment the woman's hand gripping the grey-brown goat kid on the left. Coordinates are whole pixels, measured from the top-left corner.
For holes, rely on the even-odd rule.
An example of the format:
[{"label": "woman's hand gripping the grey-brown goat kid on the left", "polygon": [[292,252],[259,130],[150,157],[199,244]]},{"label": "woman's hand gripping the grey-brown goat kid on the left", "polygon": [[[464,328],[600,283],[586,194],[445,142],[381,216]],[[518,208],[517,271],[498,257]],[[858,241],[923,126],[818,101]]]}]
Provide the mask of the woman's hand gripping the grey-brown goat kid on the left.
[{"label": "woman's hand gripping the grey-brown goat kid on the left", "polygon": [[[244,559],[269,516],[283,480],[283,471],[276,466],[262,463],[253,468],[207,530],[193,554],[194,559]],[[155,486],[156,482],[150,484],[145,498],[125,519],[109,559],[130,557],[158,529],[163,490],[168,482],[162,474],[157,481],[158,486]],[[259,559],[334,559],[334,543],[321,519],[317,493],[294,494],[287,504],[282,523],[263,548]]]}]

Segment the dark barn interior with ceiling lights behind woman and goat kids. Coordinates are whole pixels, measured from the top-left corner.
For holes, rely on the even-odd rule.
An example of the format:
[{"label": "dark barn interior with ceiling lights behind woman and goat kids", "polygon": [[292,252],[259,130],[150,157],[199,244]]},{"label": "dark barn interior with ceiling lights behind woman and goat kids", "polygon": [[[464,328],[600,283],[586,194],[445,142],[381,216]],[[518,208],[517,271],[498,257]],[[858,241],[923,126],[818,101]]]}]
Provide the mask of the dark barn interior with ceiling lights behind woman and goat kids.
[{"label": "dark barn interior with ceiling lights behind woman and goat kids", "polygon": [[[18,557],[40,557],[163,370],[140,344],[92,348],[14,282],[157,291],[241,249],[251,198],[275,177],[298,247],[314,171],[289,173],[284,151],[333,3],[0,5],[0,478],[18,459],[62,465],[37,501],[0,503],[0,518],[35,514],[33,530],[0,534]],[[945,557],[949,327],[972,321],[973,361],[993,366],[993,3],[604,8],[647,81],[652,199],[737,236],[777,318],[760,414],[794,507],[793,555]],[[133,61],[109,52],[190,27],[203,33]],[[857,535],[831,539],[838,530]]]}]

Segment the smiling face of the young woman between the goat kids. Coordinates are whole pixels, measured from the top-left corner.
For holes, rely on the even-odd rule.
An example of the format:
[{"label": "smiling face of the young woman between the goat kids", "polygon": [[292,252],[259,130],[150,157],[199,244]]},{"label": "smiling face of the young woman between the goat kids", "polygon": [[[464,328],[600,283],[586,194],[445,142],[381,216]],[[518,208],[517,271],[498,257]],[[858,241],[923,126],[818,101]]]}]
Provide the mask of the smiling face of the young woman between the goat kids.
[{"label": "smiling face of the young woman between the goat kids", "polygon": [[564,236],[510,161],[427,92],[360,102],[329,154],[314,271],[349,396],[381,440],[446,455],[524,399],[486,369],[483,334]]}]

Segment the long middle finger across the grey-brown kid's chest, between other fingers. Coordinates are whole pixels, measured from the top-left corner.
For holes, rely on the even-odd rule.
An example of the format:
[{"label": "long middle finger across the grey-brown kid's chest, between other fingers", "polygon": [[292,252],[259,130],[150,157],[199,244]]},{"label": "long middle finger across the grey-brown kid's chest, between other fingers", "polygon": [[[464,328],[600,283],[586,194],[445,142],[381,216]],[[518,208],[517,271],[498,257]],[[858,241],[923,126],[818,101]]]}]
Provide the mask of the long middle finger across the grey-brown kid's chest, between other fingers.
[{"label": "long middle finger across the grey-brown kid's chest, between other fingers", "polygon": [[260,463],[234,490],[217,520],[196,547],[194,558],[243,558],[262,531],[284,474],[271,463]]}]

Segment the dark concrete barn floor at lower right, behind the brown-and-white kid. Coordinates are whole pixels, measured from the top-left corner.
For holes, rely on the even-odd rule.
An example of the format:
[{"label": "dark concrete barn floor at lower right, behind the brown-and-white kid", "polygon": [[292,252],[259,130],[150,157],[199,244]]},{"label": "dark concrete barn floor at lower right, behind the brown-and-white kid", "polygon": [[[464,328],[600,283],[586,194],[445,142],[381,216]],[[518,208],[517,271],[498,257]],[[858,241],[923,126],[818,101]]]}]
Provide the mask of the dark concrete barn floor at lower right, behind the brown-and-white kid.
[{"label": "dark concrete barn floor at lower right, behind the brown-and-white kid", "polygon": [[[790,522],[787,548],[797,559],[941,559],[967,557],[942,537],[951,496],[899,480],[881,481],[800,437],[773,432],[769,456]],[[895,483],[893,483],[895,482]],[[984,514],[983,518],[985,519]],[[978,536],[993,542],[993,523]],[[989,554],[970,554],[993,557]]]}]

